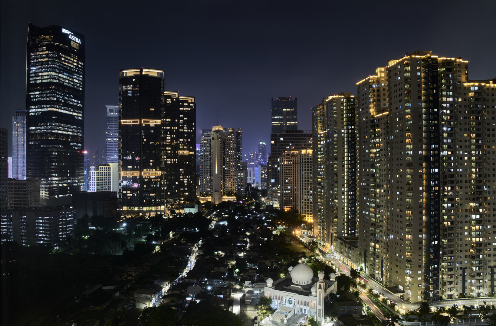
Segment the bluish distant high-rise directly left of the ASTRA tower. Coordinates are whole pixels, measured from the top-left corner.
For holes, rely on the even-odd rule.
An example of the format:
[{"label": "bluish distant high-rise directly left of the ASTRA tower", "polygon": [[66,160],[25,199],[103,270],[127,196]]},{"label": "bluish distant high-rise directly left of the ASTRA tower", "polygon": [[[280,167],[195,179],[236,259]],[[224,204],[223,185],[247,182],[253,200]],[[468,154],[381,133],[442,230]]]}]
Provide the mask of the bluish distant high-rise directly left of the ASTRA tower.
[{"label": "bluish distant high-rise directly left of the ASTRA tower", "polygon": [[12,117],[12,178],[26,179],[26,109]]}]

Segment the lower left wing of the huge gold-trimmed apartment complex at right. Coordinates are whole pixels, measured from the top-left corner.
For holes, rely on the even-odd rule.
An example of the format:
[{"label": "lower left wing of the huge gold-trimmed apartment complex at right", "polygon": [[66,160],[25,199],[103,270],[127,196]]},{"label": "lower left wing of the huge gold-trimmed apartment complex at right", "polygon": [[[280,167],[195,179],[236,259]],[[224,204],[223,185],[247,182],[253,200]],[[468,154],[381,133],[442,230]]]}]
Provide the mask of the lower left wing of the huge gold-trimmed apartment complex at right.
[{"label": "lower left wing of the huge gold-trimmed apartment complex at right", "polygon": [[[357,83],[357,197],[359,211],[359,264],[376,279],[388,275],[387,230],[389,217],[386,179],[389,157],[390,119],[388,116],[386,68]],[[373,210],[373,212],[372,212]],[[372,245],[373,243],[373,245]],[[367,245],[367,244],[370,244]],[[370,248],[373,247],[373,250]]]}]

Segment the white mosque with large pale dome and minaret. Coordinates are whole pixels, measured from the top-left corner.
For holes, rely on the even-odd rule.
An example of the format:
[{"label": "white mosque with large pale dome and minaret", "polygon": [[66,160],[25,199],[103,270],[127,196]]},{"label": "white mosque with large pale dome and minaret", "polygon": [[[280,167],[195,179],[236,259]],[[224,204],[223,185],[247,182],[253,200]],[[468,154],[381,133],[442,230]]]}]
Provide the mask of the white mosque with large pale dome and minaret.
[{"label": "white mosque with large pale dome and minaret", "polygon": [[324,298],[329,293],[336,293],[336,274],[324,280],[324,273],[313,277],[313,271],[306,264],[298,264],[288,269],[288,275],[274,281],[267,279],[265,296],[272,298],[272,309],[276,309],[271,321],[288,324],[299,315],[312,316],[319,325],[324,321]]}]

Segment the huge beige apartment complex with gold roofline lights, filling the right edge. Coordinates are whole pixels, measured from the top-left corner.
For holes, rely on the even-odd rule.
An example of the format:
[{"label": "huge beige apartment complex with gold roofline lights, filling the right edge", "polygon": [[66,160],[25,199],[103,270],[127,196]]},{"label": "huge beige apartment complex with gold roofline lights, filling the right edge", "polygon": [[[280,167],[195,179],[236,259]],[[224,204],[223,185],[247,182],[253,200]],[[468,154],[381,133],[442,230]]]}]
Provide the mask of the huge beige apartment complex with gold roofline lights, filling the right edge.
[{"label": "huge beige apartment complex with gold roofline lights, filling the right edge", "polygon": [[430,51],[378,69],[357,83],[359,260],[410,302],[493,294],[494,80]]}]

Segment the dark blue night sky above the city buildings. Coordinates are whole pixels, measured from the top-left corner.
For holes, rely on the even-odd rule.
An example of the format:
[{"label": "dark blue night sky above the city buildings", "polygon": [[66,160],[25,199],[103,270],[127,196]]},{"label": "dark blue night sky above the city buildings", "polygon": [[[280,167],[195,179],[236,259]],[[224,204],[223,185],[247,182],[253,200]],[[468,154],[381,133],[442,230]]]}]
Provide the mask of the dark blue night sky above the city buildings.
[{"label": "dark blue night sky above the city buildings", "polygon": [[[496,1],[1,1],[0,126],[25,107],[28,23],[85,35],[85,148],[104,149],[119,69],[165,69],[196,96],[201,128],[243,128],[244,154],[270,142],[270,98],[298,97],[299,129],[322,97],[418,49],[496,77]],[[10,141],[10,137],[9,137]],[[269,150],[269,148],[267,148]],[[9,144],[10,156],[10,144]]]}]

